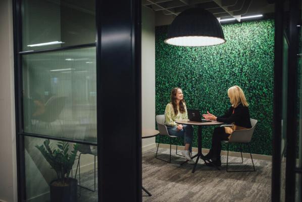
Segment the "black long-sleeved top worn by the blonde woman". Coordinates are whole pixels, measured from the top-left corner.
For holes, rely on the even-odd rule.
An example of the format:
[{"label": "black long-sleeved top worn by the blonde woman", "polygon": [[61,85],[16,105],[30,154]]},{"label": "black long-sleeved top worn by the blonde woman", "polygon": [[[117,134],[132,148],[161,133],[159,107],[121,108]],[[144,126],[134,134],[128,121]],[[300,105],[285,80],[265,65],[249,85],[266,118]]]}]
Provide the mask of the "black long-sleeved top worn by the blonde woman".
[{"label": "black long-sleeved top worn by the blonde woman", "polygon": [[227,124],[234,123],[236,126],[247,129],[251,128],[248,107],[245,107],[242,104],[239,104],[236,108],[231,106],[223,116],[217,117],[217,122]]}]

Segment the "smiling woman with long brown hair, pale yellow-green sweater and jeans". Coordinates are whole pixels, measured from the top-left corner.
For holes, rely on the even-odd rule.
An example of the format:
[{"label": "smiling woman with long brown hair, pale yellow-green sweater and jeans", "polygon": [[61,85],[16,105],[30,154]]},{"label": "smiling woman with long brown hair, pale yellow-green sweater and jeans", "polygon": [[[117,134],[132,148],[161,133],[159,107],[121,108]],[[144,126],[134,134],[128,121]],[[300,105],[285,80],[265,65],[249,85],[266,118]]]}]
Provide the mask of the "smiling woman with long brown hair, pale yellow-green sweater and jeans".
[{"label": "smiling woman with long brown hair, pale yellow-green sweater and jeans", "polygon": [[194,161],[190,157],[191,144],[193,138],[192,126],[176,124],[176,120],[187,119],[188,113],[185,101],[183,99],[183,93],[180,88],[174,88],[171,91],[171,102],[167,104],[165,110],[165,124],[167,125],[170,135],[183,137],[185,148],[182,154],[189,164],[194,164]]}]

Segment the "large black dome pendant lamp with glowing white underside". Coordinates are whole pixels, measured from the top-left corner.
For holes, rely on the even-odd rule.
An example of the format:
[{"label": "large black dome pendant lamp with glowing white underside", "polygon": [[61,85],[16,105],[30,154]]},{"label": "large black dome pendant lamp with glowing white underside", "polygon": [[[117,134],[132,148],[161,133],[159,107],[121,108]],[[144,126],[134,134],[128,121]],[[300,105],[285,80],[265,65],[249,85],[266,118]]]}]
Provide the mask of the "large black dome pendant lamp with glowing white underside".
[{"label": "large black dome pendant lamp with glowing white underside", "polygon": [[218,19],[201,8],[180,13],[169,27],[165,43],[174,46],[213,46],[225,43]]}]

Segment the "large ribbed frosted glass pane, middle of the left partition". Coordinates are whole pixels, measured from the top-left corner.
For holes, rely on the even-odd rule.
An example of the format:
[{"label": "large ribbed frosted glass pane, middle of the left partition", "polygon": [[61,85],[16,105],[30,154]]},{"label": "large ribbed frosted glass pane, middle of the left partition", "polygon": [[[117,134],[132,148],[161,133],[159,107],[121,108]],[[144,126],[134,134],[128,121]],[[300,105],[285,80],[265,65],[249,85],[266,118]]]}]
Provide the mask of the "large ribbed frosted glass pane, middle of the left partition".
[{"label": "large ribbed frosted glass pane, middle of the left partition", "polygon": [[96,142],[95,47],[24,55],[24,131]]}]

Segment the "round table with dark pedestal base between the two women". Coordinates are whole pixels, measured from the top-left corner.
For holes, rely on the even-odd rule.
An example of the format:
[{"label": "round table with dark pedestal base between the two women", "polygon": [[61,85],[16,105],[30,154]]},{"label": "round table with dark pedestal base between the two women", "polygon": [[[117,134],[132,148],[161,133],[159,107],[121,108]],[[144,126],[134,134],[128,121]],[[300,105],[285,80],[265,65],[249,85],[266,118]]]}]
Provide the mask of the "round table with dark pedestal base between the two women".
[{"label": "round table with dark pedestal base between the two women", "polygon": [[[198,152],[196,155],[192,156],[191,158],[195,158],[197,157],[196,161],[195,161],[195,164],[194,164],[194,168],[192,170],[192,173],[195,172],[195,169],[196,169],[196,166],[197,166],[197,163],[198,163],[198,160],[199,158],[203,159],[206,162],[206,158],[204,156],[204,154],[202,153],[202,146],[203,146],[203,136],[202,136],[202,127],[203,126],[216,126],[216,125],[221,125],[223,123],[221,122],[215,122],[215,121],[212,121],[212,122],[192,122],[191,120],[188,120],[188,119],[183,119],[183,120],[177,120],[176,121],[177,124],[183,124],[183,125],[191,125],[191,126],[198,126]],[[208,163],[212,164],[211,161],[207,160]],[[185,161],[187,162],[187,161]],[[184,162],[184,163],[185,163]],[[215,166],[214,164],[212,164],[215,168],[217,168],[218,170],[220,170],[217,166]]]}]

